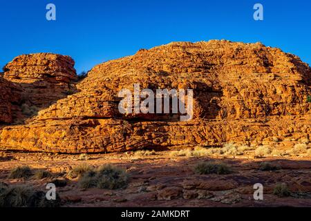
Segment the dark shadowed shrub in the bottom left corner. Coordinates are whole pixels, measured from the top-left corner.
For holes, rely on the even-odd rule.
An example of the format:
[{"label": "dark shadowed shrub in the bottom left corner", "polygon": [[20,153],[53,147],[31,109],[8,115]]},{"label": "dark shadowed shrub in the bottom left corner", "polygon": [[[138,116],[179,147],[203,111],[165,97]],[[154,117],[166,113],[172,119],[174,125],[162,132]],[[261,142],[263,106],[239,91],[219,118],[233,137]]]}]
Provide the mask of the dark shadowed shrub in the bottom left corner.
[{"label": "dark shadowed shrub in the bottom left corner", "polygon": [[57,207],[60,199],[47,200],[46,193],[30,186],[7,187],[0,193],[0,207]]}]

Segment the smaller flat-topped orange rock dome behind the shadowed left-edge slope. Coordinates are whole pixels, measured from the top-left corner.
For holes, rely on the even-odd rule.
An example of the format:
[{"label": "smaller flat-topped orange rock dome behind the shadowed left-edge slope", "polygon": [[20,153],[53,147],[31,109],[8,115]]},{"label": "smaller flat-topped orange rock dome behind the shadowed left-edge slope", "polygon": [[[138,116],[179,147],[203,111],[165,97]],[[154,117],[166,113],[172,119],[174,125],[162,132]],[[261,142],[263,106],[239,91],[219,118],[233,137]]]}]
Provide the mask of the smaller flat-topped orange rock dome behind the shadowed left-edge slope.
[{"label": "smaller flat-topped orange rock dome behind the shadowed left-edge slope", "polygon": [[74,65],[73,59],[63,55],[21,55],[3,68],[4,78],[21,86],[22,99],[47,107],[68,95],[70,81],[77,79]]}]

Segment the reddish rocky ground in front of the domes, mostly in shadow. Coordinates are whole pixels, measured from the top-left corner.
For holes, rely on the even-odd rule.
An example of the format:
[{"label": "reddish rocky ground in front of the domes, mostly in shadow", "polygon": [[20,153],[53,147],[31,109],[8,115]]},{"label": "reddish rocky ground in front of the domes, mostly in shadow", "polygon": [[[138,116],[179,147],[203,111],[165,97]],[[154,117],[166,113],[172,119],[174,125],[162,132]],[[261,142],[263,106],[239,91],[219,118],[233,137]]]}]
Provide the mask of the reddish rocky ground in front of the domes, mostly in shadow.
[{"label": "reddish rocky ground in front of the domes, mostly in shadow", "polygon": [[[207,155],[202,149],[106,155],[1,152],[0,182],[10,186],[26,184],[46,191],[51,178],[8,178],[16,166],[30,166],[32,171],[46,169],[58,179],[66,180],[66,186],[57,187],[62,206],[311,206],[310,155],[256,157],[256,150]],[[198,162],[222,162],[232,173],[199,175],[194,172]],[[277,169],[260,170],[261,162]],[[117,190],[79,188],[77,178],[68,176],[79,164],[120,166],[129,175],[128,184]],[[263,200],[253,198],[256,183],[264,186]],[[275,186],[281,183],[288,186],[289,196],[274,195]]]}]

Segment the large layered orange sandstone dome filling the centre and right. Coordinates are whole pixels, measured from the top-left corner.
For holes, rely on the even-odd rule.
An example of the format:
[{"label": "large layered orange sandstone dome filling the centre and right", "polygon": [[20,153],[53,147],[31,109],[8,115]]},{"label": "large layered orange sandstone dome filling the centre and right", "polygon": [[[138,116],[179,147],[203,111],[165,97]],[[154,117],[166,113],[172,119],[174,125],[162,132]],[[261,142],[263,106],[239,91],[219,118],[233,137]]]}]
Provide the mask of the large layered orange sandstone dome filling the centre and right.
[{"label": "large layered orange sandstone dome filling the centre and right", "polygon": [[[75,78],[73,62],[64,59],[59,73],[66,75],[57,76],[68,84]],[[27,67],[19,69],[20,76]],[[4,76],[15,76],[5,71]],[[8,86],[0,84],[8,91],[3,102],[8,102],[10,91],[2,84]],[[193,89],[194,118],[181,122],[171,114],[122,115],[118,92],[133,90],[133,84]],[[311,139],[310,67],[263,44],[178,42],[140,50],[95,66],[74,92],[43,108],[28,124],[0,128],[0,150],[102,153],[226,142],[256,145],[273,137]]]}]

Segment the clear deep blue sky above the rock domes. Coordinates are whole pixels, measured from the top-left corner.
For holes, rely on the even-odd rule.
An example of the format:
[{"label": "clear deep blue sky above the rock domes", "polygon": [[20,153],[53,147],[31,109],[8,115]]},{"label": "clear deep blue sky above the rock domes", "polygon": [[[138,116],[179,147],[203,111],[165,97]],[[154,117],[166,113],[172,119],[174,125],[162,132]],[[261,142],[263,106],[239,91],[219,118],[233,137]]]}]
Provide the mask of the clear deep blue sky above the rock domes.
[{"label": "clear deep blue sky above the rock domes", "polygon": [[[55,3],[57,21],[46,20]],[[262,3],[264,21],[254,21]],[[257,42],[311,64],[309,0],[28,0],[0,3],[0,68],[14,57],[54,52],[75,59],[78,73],[110,59],[171,41]]]}]

